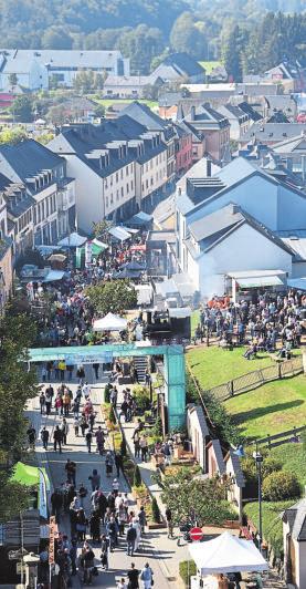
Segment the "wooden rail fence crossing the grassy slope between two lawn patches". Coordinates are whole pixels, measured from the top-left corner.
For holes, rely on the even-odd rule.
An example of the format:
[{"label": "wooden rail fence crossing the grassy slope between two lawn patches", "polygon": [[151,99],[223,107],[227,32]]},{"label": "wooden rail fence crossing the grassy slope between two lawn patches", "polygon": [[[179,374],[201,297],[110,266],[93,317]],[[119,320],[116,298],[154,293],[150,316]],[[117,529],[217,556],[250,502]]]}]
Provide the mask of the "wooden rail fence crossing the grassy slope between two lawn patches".
[{"label": "wooden rail fence crossing the grassy slope between two lawn patches", "polygon": [[243,376],[213,386],[207,392],[213,394],[219,401],[226,401],[238,394],[252,391],[266,382],[277,381],[279,379],[285,379],[286,376],[294,376],[302,372],[304,372],[303,358],[302,355],[298,355],[292,360],[278,363],[275,362],[275,364],[272,364],[271,366],[249,372],[249,374],[243,374]]}]

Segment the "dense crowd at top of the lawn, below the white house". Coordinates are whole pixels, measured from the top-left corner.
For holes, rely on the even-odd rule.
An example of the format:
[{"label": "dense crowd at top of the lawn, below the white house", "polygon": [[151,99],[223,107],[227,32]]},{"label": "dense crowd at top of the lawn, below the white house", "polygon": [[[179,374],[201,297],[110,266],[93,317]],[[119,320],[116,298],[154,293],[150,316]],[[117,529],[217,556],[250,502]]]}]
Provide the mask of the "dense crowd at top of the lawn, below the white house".
[{"label": "dense crowd at top of the lawn, below the white house", "polygon": [[251,359],[257,351],[274,352],[281,342],[279,355],[287,358],[292,348],[300,344],[305,318],[306,297],[302,292],[276,296],[265,291],[256,300],[236,303],[226,297],[213,299],[200,311],[194,343],[209,343],[212,337],[224,348],[247,343],[245,358]]}]

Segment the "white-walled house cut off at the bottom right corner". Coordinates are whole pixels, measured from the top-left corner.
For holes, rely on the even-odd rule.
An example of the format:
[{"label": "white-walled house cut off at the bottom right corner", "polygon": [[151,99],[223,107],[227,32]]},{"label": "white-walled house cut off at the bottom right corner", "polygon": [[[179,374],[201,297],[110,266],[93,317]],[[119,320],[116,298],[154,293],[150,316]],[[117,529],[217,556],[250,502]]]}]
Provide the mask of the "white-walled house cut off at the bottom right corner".
[{"label": "white-walled house cut off at the bottom right corner", "polygon": [[306,499],[283,514],[285,581],[297,589],[306,587]]}]

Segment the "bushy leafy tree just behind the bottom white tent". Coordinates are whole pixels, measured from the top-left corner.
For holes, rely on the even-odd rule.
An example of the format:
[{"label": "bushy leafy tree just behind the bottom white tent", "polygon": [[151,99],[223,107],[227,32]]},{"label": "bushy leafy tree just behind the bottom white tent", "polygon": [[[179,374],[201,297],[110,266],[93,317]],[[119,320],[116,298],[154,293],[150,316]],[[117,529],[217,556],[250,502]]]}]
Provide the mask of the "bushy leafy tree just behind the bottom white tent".
[{"label": "bushy leafy tree just behind the bottom white tent", "polygon": [[231,514],[224,500],[226,487],[217,478],[192,478],[189,468],[159,482],[161,499],[171,509],[173,523],[197,520],[199,526],[222,525]]}]

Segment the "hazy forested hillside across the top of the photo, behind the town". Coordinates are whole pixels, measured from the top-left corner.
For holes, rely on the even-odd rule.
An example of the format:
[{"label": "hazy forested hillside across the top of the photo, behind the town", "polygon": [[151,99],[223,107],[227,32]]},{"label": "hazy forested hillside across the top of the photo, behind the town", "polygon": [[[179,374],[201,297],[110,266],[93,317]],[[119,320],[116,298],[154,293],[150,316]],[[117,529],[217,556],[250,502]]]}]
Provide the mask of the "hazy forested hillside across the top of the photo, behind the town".
[{"label": "hazy forested hillside across the top of the photo, behind the town", "polygon": [[306,61],[306,0],[0,0],[0,35],[2,48],[120,49],[137,73],[186,51],[239,80]]}]

